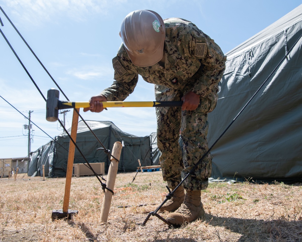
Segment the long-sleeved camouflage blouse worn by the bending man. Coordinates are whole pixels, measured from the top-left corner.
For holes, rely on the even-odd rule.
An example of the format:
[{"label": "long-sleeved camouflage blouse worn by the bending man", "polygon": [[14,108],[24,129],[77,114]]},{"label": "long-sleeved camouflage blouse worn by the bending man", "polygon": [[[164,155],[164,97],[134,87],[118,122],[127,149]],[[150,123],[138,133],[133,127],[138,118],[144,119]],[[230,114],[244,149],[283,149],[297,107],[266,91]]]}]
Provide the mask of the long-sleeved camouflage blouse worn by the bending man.
[{"label": "long-sleeved camouflage blouse worn by the bending man", "polygon": [[164,23],[165,65],[135,66],[121,44],[112,60],[114,82],[101,92],[108,101],[125,100],[133,92],[138,75],[149,83],[176,90],[186,89],[217,101],[213,94],[217,93],[226,61],[220,47],[190,21],[168,18]]}]

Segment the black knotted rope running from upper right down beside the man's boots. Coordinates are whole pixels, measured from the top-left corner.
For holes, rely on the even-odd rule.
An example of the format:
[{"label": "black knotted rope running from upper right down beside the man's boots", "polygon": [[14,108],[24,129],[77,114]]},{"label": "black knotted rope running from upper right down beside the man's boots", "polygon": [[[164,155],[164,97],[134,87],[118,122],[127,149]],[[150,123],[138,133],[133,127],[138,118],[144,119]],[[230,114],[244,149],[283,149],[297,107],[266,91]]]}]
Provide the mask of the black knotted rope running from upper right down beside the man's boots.
[{"label": "black knotted rope running from upper right down beside the man's boots", "polygon": [[191,171],[182,179],[182,181],[176,186],[176,188],[171,192],[169,187],[167,186],[169,190],[169,194],[166,196],[166,199],[162,202],[162,204],[159,205],[158,208],[156,208],[155,211],[150,212],[148,216],[146,217],[145,221],[142,225],[145,225],[147,221],[149,220],[150,216],[156,216],[160,220],[164,221],[166,224],[171,226],[169,221],[165,220],[163,217],[157,214],[159,209],[164,205],[169,199],[171,199],[174,195],[174,192],[182,185],[182,183],[188,178],[189,175],[191,175],[194,170],[197,168],[197,166],[203,161],[203,159],[206,157],[206,155],[211,151],[211,149],[216,145],[216,143],[221,139],[221,137],[225,134],[225,132],[230,128],[230,126],[235,122],[235,120],[238,118],[238,116],[243,112],[243,110],[246,108],[246,106],[252,101],[252,99],[256,96],[256,94],[261,90],[261,88],[264,86],[264,84],[268,81],[268,79],[274,74],[274,72],[278,69],[278,67],[282,64],[282,62],[288,57],[290,52],[293,50],[293,48],[296,46],[296,44],[299,42],[299,40],[302,38],[302,34],[297,39],[297,41],[293,44],[293,46],[290,48],[290,50],[285,54],[285,56],[282,58],[282,60],[278,63],[278,65],[274,68],[274,70],[271,72],[271,74],[268,75],[268,77],[265,79],[265,81],[261,84],[261,86],[258,88],[258,90],[254,93],[254,95],[249,99],[249,101],[243,106],[243,108],[240,110],[240,112],[236,115],[236,117],[233,119],[233,121],[229,124],[229,126],[226,127],[226,129],[222,132],[222,134],[219,136],[219,138],[214,142],[214,144],[209,148],[209,150],[201,157],[201,159],[194,165],[194,167],[191,169]]}]

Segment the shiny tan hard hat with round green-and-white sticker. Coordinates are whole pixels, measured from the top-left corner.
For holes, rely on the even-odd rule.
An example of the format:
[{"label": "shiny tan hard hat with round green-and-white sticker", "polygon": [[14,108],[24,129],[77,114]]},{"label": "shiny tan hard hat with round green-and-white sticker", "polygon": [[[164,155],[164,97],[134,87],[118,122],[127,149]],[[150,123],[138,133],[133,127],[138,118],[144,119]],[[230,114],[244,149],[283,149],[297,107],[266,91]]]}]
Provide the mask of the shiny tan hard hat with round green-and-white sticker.
[{"label": "shiny tan hard hat with round green-and-white sticker", "polygon": [[152,66],[162,59],[165,25],[156,12],[136,10],[128,14],[122,22],[120,37],[134,65]]}]

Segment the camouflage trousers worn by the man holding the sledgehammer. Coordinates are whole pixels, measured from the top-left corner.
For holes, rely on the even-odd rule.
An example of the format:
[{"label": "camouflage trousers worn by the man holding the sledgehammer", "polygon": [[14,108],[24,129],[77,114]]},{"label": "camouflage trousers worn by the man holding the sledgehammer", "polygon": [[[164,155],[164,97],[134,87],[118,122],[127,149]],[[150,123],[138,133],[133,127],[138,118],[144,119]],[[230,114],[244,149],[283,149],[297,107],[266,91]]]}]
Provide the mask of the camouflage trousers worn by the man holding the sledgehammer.
[{"label": "camouflage trousers worn by the man holding the sledgehammer", "polygon": [[[157,101],[181,100],[183,93],[156,86]],[[207,152],[207,110],[209,101],[201,97],[201,107],[194,111],[182,111],[181,107],[156,108],[157,146],[163,180],[174,189]],[[182,147],[180,147],[180,144]],[[203,159],[182,186],[187,190],[204,190],[211,175],[212,155]]]}]

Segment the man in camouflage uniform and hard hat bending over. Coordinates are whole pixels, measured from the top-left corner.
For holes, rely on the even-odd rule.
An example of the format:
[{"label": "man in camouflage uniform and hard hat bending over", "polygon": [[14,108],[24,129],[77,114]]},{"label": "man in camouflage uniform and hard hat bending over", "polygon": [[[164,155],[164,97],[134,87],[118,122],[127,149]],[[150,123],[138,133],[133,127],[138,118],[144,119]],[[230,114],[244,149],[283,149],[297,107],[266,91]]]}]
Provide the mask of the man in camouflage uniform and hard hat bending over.
[{"label": "man in camouflage uniform and hard hat bending over", "polygon": [[[216,106],[226,57],[220,47],[190,21],[162,20],[150,10],[127,15],[120,36],[123,44],[112,60],[115,81],[101,94],[93,96],[91,107],[84,111],[101,112],[101,101],[123,101],[133,92],[138,75],[155,84],[156,101],[182,100],[182,107],[156,108],[162,175],[174,190],[208,150],[207,113]],[[170,223],[181,225],[204,215],[201,190],[208,186],[211,161],[212,156],[208,154],[160,209],[172,212],[167,217]]]}]

